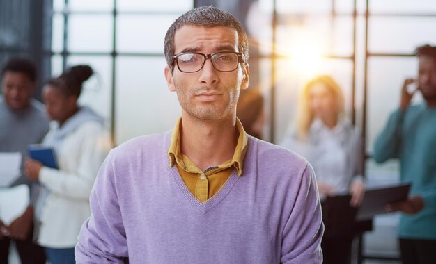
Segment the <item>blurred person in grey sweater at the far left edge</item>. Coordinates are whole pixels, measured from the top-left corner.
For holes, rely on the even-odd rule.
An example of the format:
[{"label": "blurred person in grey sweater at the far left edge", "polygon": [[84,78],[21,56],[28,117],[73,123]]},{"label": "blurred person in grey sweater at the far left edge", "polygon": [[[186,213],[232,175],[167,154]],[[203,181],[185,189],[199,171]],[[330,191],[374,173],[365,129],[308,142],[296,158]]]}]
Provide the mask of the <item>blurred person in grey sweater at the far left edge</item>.
[{"label": "blurred person in grey sweater at the far left edge", "polygon": [[[44,106],[31,96],[36,89],[36,66],[26,58],[11,58],[1,70],[0,152],[21,152],[27,145],[40,143],[49,130]],[[33,185],[24,174],[12,186],[26,184],[31,203],[9,226],[1,222],[0,263],[8,263],[9,246],[15,241],[22,263],[45,263],[44,249],[33,243]]]}]

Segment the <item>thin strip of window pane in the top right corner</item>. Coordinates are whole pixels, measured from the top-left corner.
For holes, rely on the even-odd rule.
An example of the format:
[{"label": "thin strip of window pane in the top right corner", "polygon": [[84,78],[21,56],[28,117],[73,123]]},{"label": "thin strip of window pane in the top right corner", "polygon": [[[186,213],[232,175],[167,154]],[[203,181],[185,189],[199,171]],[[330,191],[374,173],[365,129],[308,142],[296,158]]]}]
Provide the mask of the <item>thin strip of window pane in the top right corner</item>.
[{"label": "thin strip of window pane in the top right corner", "polygon": [[371,1],[370,12],[375,13],[435,13],[434,0],[383,0]]}]

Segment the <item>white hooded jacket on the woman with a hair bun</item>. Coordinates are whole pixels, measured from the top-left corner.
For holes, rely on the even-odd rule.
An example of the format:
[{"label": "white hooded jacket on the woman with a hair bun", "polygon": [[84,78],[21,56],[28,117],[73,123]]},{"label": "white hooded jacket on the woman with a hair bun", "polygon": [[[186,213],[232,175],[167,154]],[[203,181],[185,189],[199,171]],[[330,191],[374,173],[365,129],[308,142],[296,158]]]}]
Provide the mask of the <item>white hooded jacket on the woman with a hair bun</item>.
[{"label": "white hooded jacket on the woman with a hair bun", "polygon": [[[50,133],[54,131],[47,137]],[[65,135],[56,152],[59,170],[42,167],[39,174],[49,195],[42,206],[38,244],[75,247],[81,225],[91,215],[89,195],[110,146],[104,125],[92,120]]]}]

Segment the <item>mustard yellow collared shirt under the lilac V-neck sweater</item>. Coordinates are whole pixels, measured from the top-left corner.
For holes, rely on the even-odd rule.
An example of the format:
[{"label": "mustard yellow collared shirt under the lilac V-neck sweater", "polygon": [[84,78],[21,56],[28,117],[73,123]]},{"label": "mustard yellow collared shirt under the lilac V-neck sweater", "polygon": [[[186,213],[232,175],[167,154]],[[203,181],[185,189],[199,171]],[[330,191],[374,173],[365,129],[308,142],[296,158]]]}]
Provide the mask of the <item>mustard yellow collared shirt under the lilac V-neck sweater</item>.
[{"label": "mustard yellow collared shirt under the lilac V-neck sweater", "polygon": [[237,118],[236,127],[239,136],[233,158],[221,165],[210,167],[203,172],[187,156],[182,154],[180,149],[180,126],[182,126],[181,117],[178,119],[176,126],[174,126],[171,135],[171,145],[168,150],[169,166],[173,167],[174,163],[176,163],[180,176],[182,176],[192,195],[200,201],[207,201],[219,192],[234,169],[238,171],[238,176],[242,175],[244,157],[247,153],[247,133]]}]

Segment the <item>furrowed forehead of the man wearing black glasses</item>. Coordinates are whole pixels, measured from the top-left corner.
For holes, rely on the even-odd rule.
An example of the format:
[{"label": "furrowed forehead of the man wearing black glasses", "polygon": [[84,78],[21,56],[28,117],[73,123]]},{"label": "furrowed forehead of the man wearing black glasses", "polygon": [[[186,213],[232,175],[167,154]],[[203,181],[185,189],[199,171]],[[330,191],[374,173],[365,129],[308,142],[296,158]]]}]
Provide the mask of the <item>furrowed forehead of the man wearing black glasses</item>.
[{"label": "furrowed forehead of the man wearing black glasses", "polygon": [[194,26],[185,25],[178,28],[174,35],[174,50],[202,49],[206,47],[238,49],[238,32],[227,26]]}]

